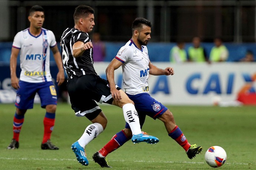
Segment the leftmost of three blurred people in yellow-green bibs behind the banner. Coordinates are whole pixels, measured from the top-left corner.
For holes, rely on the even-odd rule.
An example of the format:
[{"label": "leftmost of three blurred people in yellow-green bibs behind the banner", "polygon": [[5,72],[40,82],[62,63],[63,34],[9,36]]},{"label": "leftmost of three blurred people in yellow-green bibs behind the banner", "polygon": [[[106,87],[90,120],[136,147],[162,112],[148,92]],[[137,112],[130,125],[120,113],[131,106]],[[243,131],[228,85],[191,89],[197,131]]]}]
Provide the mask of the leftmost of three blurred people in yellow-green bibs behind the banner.
[{"label": "leftmost of three blurred people in yellow-green bibs behind the banner", "polygon": [[183,41],[178,41],[170,51],[170,61],[176,63],[182,63],[187,61],[187,53],[184,50],[185,43]]}]

